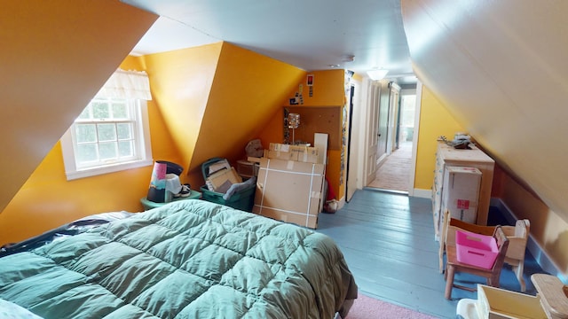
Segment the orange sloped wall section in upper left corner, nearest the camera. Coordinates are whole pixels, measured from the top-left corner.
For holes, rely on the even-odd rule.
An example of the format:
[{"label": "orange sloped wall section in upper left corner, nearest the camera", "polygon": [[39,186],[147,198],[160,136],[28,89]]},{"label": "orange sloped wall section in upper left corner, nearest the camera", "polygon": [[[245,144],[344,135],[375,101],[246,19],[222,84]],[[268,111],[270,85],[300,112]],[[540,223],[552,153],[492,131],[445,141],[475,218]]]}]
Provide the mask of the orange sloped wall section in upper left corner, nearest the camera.
[{"label": "orange sloped wall section in upper left corner, nearest the camera", "polygon": [[0,211],[157,18],[115,0],[2,2]]}]

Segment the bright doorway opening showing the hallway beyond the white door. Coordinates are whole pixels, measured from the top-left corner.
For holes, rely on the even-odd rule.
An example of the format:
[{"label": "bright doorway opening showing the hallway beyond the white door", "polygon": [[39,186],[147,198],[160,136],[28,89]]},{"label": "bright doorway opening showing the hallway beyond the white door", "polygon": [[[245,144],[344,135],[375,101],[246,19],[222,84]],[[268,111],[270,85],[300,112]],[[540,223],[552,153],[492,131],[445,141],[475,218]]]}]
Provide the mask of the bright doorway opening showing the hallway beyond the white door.
[{"label": "bright doorway opening showing the hallway beyond the white door", "polygon": [[396,123],[392,134],[396,137],[390,153],[381,161],[375,179],[367,187],[380,191],[408,194],[412,169],[413,136],[415,127],[416,89],[401,89],[397,112],[389,116]]}]

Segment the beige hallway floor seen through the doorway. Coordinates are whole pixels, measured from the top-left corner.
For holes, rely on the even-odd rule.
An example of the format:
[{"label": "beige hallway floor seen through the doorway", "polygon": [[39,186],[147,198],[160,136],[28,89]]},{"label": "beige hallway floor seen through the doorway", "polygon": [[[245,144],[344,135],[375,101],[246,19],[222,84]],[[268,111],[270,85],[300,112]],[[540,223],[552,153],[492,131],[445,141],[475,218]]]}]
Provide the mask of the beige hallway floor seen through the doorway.
[{"label": "beige hallway floor seen through the doorway", "polygon": [[400,144],[376,171],[375,180],[367,187],[384,191],[408,192],[412,161],[412,142]]}]

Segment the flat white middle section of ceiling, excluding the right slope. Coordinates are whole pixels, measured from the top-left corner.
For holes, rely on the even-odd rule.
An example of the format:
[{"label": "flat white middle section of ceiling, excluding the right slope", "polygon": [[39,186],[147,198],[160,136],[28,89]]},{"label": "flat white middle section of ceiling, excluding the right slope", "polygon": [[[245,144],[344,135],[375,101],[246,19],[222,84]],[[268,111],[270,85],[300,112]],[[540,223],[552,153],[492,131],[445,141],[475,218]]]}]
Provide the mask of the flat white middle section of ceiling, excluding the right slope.
[{"label": "flat white middle section of ceiling, excluding the right slope", "polygon": [[415,82],[398,0],[122,2],[160,15],[138,54],[226,41],[307,71],[384,68]]}]

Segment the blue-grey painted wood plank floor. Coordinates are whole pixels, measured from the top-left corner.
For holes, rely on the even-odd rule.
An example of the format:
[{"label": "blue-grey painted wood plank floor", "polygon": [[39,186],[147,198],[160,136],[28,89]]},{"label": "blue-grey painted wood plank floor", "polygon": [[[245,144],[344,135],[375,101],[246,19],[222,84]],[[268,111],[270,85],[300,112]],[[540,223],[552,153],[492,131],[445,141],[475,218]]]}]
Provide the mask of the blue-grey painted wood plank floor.
[{"label": "blue-grey painted wood plank floor", "polygon": [[[498,216],[499,212],[490,215]],[[359,292],[367,296],[439,318],[455,318],[459,299],[477,299],[477,292],[456,288],[453,300],[444,298],[446,282],[438,271],[438,242],[428,198],[358,190],[335,214],[319,214],[318,224],[318,231],[341,247]],[[526,293],[534,295],[529,277],[542,270],[530,253],[526,254]],[[461,274],[455,281],[484,284],[483,278]],[[520,291],[508,267],[501,272],[501,288]]]}]

